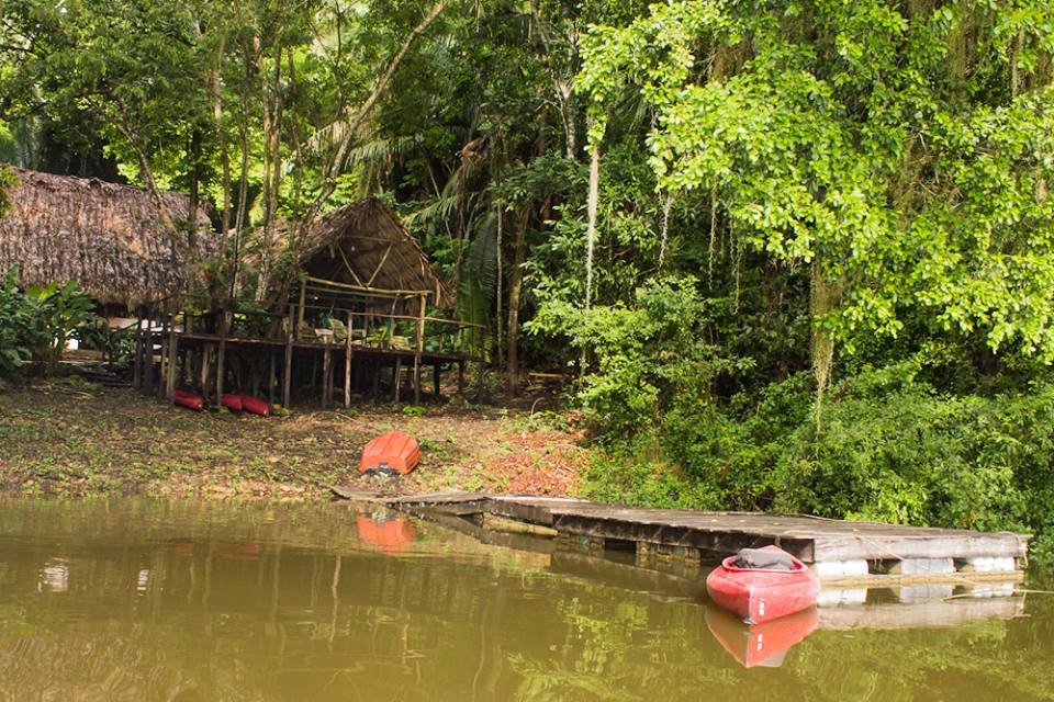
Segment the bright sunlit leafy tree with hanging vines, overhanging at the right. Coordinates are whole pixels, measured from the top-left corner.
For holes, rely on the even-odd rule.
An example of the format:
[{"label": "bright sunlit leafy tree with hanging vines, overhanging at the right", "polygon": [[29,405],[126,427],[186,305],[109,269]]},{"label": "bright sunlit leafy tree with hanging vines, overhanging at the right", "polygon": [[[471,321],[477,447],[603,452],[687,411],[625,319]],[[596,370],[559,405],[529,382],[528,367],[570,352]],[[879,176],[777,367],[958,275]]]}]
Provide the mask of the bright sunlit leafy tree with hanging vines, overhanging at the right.
[{"label": "bright sunlit leafy tree with hanging vines, overhanging at the right", "polygon": [[594,29],[582,81],[653,105],[661,191],[713,189],[737,239],[810,268],[821,392],[836,340],[919,312],[1051,362],[1054,18],[1018,5],[655,5]]}]

